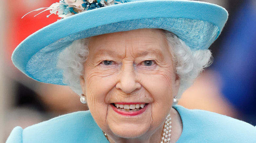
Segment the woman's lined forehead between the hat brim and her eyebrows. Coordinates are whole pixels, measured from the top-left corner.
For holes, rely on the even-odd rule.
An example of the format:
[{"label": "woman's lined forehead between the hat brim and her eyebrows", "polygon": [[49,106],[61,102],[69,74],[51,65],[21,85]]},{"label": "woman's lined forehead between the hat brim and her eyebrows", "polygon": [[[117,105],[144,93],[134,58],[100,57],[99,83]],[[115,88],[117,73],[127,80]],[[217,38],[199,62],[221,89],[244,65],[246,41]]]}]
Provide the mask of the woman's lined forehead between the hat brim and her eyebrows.
[{"label": "woman's lined forehead between the hat brim and her eyebrows", "polygon": [[166,36],[160,29],[137,29],[94,36],[89,41],[90,54],[131,53],[137,56],[147,54],[168,54]]}]

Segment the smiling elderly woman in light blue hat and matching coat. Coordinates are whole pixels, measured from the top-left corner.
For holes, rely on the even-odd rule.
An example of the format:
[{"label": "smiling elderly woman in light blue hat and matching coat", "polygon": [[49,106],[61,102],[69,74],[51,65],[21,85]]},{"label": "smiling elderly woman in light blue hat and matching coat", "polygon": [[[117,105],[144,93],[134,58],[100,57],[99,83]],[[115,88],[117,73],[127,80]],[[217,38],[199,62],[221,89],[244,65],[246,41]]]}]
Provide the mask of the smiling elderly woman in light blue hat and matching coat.
[{"label": "smiling elderly woman in light blue hat and matching coat", "polygon": [[24,40],[13,63],[35,80],[69,85],[90,110],[16,127],[8,143],[256,141],[248,123],[175,105],[211,63],[207,48],[226,22],[224,8],[64,0],[47,9],[62,19]]}]

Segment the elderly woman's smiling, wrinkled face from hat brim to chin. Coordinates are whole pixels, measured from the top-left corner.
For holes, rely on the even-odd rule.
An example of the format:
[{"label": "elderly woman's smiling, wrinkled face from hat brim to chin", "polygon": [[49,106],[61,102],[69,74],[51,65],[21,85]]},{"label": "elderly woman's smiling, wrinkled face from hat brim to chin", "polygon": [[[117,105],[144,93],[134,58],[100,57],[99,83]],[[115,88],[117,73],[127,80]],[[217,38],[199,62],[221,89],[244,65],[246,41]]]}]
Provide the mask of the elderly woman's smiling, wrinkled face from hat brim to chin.
[{"label": "elderly woman's smiling, wrinkled face from hat brim to chin", "polygon": [[[95,36],[89,52],[80,83],[98,126],[112,138],[161,132],[179,88],[164,33],[138,29]],[[115,103],[145,106],[128,112]]]}]

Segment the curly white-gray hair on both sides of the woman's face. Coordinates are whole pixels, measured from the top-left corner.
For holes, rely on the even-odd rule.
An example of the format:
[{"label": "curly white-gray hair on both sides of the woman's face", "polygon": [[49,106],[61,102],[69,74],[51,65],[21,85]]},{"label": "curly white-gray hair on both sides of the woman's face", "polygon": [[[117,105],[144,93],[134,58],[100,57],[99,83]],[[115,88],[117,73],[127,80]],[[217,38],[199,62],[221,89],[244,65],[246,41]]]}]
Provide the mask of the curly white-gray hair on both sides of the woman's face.
[{"label": "curly white-gray hair on both sides of the woman's face", "polygon": [[[176,73],[180,79],[177,98],[190,87],[204,68],[212,63],[211,52],[208,49],[193,50],[175,34],[164,31]],[[80,77],[84,74],[84,63],[89,55],[89,39],[75,40],[59,55],[57,67],[63,70],[63,83],[81,95]]]}]

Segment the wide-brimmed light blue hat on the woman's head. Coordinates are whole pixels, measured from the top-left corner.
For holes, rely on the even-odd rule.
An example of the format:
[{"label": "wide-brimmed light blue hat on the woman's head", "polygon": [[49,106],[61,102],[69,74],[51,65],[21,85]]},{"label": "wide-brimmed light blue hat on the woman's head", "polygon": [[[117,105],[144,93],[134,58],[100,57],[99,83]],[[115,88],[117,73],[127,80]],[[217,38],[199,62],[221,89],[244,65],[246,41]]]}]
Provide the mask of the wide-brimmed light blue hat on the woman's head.
[{"label": "wide-brimmed light blue hat on the woman's head", "polygon": [[63,71],[56,68],[56,64],[59,53],[74,40],[133,29],[160,28],[176,34],[192,50],[207,49],[220,35],[228,17],[224,8],[199,1],[116,2],[118,4],[88,9],[61,19],[30,35],[14,50],[14,65],[37,81],[65,85]]}]

